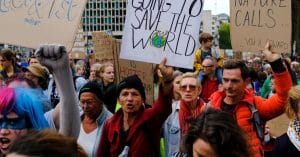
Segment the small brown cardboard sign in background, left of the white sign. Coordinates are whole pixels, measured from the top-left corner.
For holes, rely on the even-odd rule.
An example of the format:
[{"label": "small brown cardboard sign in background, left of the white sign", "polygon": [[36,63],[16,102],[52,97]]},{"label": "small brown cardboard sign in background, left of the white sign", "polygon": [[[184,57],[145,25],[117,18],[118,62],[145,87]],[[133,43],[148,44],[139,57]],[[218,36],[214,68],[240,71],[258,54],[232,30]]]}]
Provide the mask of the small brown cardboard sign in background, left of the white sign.
[{"label": "small brown cardboard sign in background, left of the white sign", "polygon": [[113,38],[105,32],[92,32],[93,57],[99,62],[113,60]]}]

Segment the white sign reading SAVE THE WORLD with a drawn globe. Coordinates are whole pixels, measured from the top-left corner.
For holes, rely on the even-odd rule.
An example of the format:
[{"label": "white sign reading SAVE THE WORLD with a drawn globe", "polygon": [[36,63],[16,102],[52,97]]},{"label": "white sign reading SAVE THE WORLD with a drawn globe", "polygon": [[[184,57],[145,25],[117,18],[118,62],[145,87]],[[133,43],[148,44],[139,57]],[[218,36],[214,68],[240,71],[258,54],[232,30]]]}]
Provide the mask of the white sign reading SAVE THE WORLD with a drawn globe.
[{"label": "white sign reading SAVE THE WORLD with a drawn globe", "polygon": [[120,58],[193,68],[203,0],[128,0]]}]

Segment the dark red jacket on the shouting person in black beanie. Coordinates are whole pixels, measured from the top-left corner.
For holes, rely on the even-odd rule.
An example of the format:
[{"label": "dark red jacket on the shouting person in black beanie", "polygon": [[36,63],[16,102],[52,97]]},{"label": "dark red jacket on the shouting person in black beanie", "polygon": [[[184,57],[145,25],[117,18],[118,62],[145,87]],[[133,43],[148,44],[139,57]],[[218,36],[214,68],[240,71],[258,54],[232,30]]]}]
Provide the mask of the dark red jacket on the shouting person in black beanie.
[{"label": "dark red jacket on the shouting person in black beanie", "polygon": [[[159,153],[160,129],[172,112],[172,98],[159,95],[153,108],[141,109],[138,117],[130,127],[126,138],[129,144],[129,156],[154,157]],[[118,157],[123,151],[121,143],[121,123],[123,110],[120,109],[111,117],[103,128],[97,157]]]}]

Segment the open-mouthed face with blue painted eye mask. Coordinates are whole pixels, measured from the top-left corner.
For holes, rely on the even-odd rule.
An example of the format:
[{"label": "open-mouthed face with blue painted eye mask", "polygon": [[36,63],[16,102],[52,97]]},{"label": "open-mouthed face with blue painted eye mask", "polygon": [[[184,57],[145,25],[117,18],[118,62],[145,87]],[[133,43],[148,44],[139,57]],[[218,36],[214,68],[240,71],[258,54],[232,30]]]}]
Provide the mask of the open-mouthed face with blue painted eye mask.
[{"label": "open-mouthed face with blue painted eye mask", "polygon": [[30,124],[25,118],[19,117],[15,112],[6,116],[0,114],[0,151],[6,154],[11,143],[21,135],[27,133]]}]

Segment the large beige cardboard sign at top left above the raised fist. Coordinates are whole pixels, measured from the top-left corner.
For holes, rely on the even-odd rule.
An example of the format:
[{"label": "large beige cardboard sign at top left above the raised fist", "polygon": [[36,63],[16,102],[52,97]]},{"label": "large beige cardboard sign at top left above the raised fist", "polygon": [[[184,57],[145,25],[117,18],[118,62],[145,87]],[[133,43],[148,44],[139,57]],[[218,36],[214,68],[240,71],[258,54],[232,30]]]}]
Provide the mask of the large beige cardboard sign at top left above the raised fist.
[{"label": "large beige cardboard sign at top left above the raised fist", "polygon": [[68,52],[87,0],[0,0],[0,42],[37,48],[59,43]]}]

